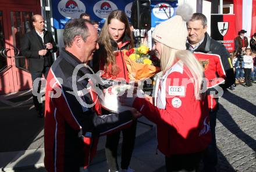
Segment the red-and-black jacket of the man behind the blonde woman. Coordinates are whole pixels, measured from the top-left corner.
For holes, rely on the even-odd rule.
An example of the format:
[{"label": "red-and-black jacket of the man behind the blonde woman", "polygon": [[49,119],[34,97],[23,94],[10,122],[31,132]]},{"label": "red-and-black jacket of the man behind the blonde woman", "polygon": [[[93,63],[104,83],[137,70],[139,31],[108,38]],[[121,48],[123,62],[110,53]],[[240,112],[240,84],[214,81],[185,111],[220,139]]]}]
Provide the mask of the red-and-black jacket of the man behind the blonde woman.
[{"label": "red-and-black jacket of the man behind the blonde woman", "polygon": [[[186,46],[187,50],[189,50],[190,45],[188,42]],[[224,45],[210,38],[207,32],[205,32],[204,41],[193,51],[205,69],[205,78],[209,80],[209,109],[218,111],[218,96],[222,95],[217,95],[217,92],[221,93],[221,88],[227,89],[234,83],[234,71],[229,52]]]}]

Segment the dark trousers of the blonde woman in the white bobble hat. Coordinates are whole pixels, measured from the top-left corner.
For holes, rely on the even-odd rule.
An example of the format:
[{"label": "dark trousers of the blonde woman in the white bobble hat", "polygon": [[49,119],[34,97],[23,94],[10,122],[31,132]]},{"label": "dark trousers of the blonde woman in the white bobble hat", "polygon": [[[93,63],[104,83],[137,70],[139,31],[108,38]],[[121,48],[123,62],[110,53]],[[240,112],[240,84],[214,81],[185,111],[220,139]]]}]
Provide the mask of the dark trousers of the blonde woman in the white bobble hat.
[{"label": "dark trousers of the blonde woman in the white bobble hat", "polygon": [[166,172],[198,171],[203,152],[165,156]]}]

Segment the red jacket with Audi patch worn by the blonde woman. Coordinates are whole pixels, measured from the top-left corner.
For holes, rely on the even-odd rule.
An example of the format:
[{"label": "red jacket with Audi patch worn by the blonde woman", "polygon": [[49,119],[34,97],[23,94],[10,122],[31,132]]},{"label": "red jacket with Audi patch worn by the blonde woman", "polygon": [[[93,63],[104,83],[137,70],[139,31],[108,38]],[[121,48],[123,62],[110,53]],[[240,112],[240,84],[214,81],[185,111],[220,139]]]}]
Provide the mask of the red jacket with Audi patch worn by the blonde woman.
[{"label": "red jacket with Audi patch worn by the blonde woman", "polygon": [[[157,81],[155,105],[136,98],[133,107],[157,124],[158,149],[164,155],[200,152],[211,141],[207,98],[196,100],[190,71],[173,65]],[[190,75],[191,76],[191,75]]]}]

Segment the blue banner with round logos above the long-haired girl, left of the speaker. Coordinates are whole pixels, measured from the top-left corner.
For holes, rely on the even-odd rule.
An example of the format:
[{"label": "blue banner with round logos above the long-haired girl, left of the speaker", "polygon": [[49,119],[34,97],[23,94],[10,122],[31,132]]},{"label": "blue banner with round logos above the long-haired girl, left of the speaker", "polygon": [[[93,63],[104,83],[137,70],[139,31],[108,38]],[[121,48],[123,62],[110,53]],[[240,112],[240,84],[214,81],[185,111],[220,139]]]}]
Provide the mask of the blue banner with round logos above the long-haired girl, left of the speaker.
[{"label": "blue banner with round logos above the long-haired girl, left of the speaker", "polygon": [[99,23],[104,23],[108,14],[116,9],[124,10],[126,15],[130,17],[132,2],[133,0],[54,0],[52,1],[52,7],[55,8],[52,10],[54,28],[64,28],[68,20],[79,18],[81,13],[89,14],[91,20]]}]

